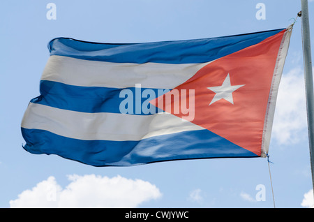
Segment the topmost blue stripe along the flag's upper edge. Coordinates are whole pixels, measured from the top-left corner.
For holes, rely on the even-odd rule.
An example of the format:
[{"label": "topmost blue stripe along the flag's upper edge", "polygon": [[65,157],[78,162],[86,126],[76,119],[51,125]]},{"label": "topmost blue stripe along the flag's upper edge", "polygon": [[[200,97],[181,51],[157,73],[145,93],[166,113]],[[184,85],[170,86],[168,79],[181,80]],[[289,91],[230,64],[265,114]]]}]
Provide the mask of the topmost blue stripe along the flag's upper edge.
[{"label": "topmost blue stripe along the flag's upper edge", "polygon": [[94,61],[144,64],[198,64],[232,54],[260,43],[285,29],[195,40],[154,43],[91,43],[73,38],[54,38],[48,44],[50,55]]}]

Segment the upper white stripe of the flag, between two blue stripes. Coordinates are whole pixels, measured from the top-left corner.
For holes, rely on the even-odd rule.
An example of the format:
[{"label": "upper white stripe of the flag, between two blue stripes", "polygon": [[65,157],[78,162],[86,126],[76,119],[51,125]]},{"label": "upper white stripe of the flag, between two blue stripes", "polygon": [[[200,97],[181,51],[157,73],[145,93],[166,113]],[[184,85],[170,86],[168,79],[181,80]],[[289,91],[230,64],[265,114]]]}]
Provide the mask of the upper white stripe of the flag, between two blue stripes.
[{"label": "upper white stripe of the flag, between two blue stripes", "polygon": [[204,64],[130,64],[51,56],[41,80],[82,87],[173,89],[195,75]]}]

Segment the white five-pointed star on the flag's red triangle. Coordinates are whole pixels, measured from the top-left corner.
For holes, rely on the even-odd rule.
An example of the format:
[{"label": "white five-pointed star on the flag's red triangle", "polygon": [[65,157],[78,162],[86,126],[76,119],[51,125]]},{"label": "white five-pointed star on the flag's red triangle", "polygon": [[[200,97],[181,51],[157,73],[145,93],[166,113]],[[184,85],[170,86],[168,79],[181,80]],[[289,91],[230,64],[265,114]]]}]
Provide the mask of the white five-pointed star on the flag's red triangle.
[{"label": "white five-pointed star on the flag's red triangle", "polygon": [[220,87],[207,87],[207,89],[214,91],[214,93],[216,93],[214,98],[211,100],[211,103],[209,103],[209,105],[215,103],[216,101],[219,101],[222,98],[233,104],[232,93],[243,86],[245,85],[240,84],[237,86],[232,86],[230,84],[230,76],[228,73],[227,77],[225,77],[225,80],[223,81],[223,84]]}]

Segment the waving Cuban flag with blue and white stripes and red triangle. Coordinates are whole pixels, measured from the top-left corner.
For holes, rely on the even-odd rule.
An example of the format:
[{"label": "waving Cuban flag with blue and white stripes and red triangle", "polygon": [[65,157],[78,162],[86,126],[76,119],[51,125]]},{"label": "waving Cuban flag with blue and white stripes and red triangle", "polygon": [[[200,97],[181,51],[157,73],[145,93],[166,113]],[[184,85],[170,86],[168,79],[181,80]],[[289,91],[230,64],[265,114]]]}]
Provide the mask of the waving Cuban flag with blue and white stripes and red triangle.
[{"label": "waving Cuban flag with blue and white stripes and red triangle", "polygon": [[292,27],[154,43],[54,38],[24,149],[94,166],[264,157]]}]

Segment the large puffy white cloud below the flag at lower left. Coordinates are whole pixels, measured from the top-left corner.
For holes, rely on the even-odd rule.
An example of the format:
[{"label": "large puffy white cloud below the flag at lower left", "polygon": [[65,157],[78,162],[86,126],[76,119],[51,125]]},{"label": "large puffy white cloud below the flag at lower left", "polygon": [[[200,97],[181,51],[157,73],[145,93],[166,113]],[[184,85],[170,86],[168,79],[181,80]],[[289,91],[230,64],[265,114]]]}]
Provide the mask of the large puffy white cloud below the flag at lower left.
[{"label": "large puffy white cloud below the flag at lower left", "polygon": [[160,198],[159,189],[141,179],[70,175],[70,184],[62,189],[54,177],[23,191],[10,207],[137,207]]}]

